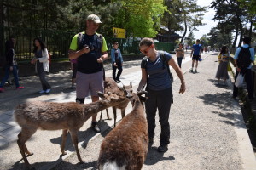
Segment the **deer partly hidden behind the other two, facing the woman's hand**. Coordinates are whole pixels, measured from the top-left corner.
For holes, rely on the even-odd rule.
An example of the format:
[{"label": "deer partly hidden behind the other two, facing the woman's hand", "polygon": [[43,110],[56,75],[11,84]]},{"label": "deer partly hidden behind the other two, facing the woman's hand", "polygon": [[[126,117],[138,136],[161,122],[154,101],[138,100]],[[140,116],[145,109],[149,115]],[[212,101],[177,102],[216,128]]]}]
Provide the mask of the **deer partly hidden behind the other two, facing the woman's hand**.
[{"label": "deer partly hidden behind the other two, facing the woman's hand", "polygon": [[[123,85],[123,87],[119,87],[117,85],[117,83],[113,80],[113,78],[111,77],[106,77],[105,81],[104,81],[104,92],[105,94],[108,94],[109,92],[113,93],[113,94],[117,94],[119,96],[123,96],[123,97],[131,97],[132,94],[132,82],[130,82],[130,85],[125,86]],[[119,105],[115,105],[112,107],[113,109],[113,127],[116,126],[116,118],[117,118],[117,109],[121,110],[121,115],[122,118],[125,117],[125,109],[127,107],[129,103],[129,99],[125,98],[122,102],[119,103]],[[108,114],[108,109],[106,109],[107,112],[107,116],[108,119],[110,119],[109,114]],[[102,120],[102,112],[101,112],[101,116],[100,116],[100,120]]]}]

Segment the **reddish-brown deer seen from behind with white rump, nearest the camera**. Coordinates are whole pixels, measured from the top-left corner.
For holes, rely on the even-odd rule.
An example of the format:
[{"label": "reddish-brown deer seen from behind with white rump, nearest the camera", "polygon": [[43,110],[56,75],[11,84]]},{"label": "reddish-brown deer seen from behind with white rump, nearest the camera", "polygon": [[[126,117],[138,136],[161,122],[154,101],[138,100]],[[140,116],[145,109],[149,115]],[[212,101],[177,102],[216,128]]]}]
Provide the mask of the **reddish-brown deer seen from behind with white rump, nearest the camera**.
[{"label": "reddish-brown deer seen from behind with white rump, nearest the camera", "polygon": [[142,169],[148,153],[148,122],[145,117],[143,98],[146,92],[133,93],[131,113],[108,133],[102,141],[98,158],[99,170]]}]

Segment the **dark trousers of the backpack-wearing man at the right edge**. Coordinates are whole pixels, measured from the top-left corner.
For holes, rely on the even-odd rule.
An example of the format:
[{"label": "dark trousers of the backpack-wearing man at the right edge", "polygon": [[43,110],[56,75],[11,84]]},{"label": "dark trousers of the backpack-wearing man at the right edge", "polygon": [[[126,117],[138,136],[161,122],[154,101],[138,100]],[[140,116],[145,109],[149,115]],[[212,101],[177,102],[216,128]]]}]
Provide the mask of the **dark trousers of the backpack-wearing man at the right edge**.
[{"label": "dark trousers of the backpack-wearing man at the right edge", "polygon": [[[236,76],[235,76],[235,82],[236,78],[238,76],[238,71],[236,71]],[[253,82],[252,82],[252,71],[251,69],[244,69],[241,71],[242,75],[244,76],[244,80],[247,83],[247,92],[248,92],[248,97],[249,99],[253,99]],[[237,97],[238,95],[238,88],[236,88],[234,84],[233,88],[233,97]]]}]

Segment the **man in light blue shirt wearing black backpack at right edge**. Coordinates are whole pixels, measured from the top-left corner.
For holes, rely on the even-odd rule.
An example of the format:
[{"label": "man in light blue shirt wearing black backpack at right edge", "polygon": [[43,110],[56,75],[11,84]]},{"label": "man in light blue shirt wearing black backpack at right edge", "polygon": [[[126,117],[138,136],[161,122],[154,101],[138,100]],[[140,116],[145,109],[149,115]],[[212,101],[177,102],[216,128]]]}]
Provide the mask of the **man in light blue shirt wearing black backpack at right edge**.
[{"label": "man in light blue shirt wearing black backpack at right edge", "polygon": [[[247,93],[249,99],[254,99],[253,97],[253,82],[252,82],[252,63],[255,60],[254,57],[254,48],[250,47],[251,37],[243,38],[243,46],[236,49],[236,53],[234,56],[235,65],[236,65],[236,78],[238,73],[241,72],[242,76],[244,76],[244,80],[247,83]],[[234,84],[233,88],[233,98],[236,98],[238,95],[238,88]]]}]

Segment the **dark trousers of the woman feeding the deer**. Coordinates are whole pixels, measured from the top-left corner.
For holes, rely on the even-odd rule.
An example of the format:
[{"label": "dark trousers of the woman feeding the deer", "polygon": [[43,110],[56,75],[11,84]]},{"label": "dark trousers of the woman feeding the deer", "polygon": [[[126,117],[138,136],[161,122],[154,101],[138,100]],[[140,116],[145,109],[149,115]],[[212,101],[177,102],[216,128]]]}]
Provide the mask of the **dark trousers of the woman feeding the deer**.
[{"label": "dark trousers of the woman feeding the deer", "polygon": [[156,109],[159,111],[159,122],[161,126],[160,144],[170,143],[170,124],[169,114],[172,104],[172,88],[154,91],[147,89],[148,99],[145,103],[147,121],[148,121],[148,138],[154,138],[155,114]]}]

